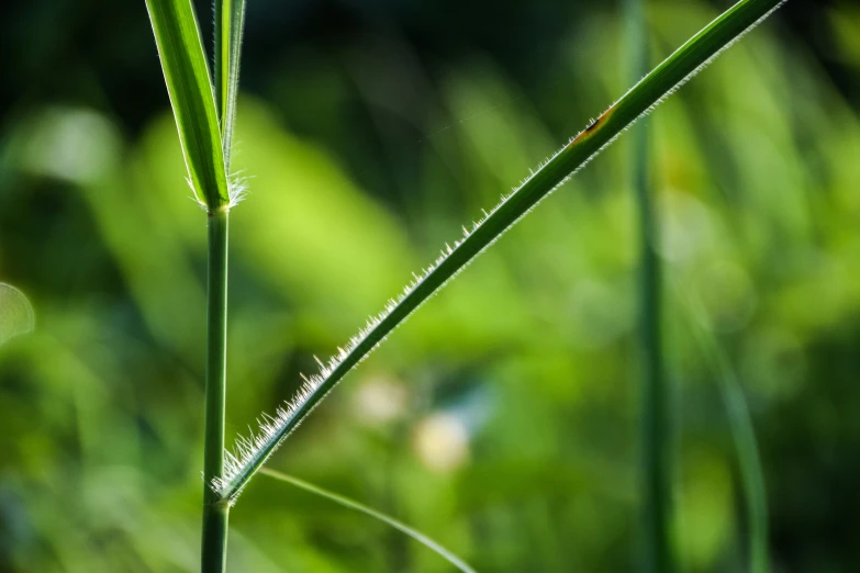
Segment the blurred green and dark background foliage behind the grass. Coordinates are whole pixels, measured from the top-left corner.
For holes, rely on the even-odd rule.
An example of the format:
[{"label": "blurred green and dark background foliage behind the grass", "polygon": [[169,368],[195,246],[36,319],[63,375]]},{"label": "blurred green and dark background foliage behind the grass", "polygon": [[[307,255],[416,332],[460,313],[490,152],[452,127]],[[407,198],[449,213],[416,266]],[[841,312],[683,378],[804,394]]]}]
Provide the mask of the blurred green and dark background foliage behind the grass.
[{"label": "blurred green and dark background foliage behind the grass", "polygon": [[[652,61],[728,5],[649,1]],[[0,571],[194,571],[205,216],[144,2],[3,12],[0,282],[30,296],[36,329],[0,347]],[[623,30],[616,2],[249,0],[228,440],[627,89]],[[648,120],[685,572],[741,571],[747,550],[695,333],[744,384],[774,572],[860,571],[858,71],[860,8],[796,0]],[[634,571],[627,150],[422,308],[271,465],[482,572]],[[266,476],[231,523],[235,572],[450,571]]]}]

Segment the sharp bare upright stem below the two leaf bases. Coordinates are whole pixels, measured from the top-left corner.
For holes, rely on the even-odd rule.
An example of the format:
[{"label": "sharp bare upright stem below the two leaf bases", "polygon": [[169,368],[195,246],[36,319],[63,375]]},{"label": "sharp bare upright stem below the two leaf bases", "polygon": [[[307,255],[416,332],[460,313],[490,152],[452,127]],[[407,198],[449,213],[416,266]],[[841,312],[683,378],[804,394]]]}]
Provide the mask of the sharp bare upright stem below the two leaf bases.
[{"label": "sharp bare upright stem below the two leaf bases", "polygon": [[226,566],[230,504],[212,487],[224,473],[224,411],[227,366],[227,210],[209,214],[209,270],[206,272],[206,404],[203,453],[203,573]]}]

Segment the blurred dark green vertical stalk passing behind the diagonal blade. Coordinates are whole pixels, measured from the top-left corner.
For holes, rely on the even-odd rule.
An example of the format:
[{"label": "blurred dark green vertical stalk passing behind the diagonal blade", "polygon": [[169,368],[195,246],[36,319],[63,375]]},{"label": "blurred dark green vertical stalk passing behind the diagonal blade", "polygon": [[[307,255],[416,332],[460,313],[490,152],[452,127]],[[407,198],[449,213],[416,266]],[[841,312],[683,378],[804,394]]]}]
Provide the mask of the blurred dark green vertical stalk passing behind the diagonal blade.
[{"label": "blurred dark green vertical stalk passing behind the diagonal blade", "polygon": [[[628,68],[634,81],[650,69],[644,3],[645,0],[624,2]],[[639,479],[643,501],[639,565],[646,573],[672,573],[675,571],[675,564],[671,536],[671,425],[660,321],[661,269],[656,250],[659,223],[649,186],[647,127],[647,123],[641,123],[635,126],[630,134],[630,183],[636,195],[639,225]]]}]

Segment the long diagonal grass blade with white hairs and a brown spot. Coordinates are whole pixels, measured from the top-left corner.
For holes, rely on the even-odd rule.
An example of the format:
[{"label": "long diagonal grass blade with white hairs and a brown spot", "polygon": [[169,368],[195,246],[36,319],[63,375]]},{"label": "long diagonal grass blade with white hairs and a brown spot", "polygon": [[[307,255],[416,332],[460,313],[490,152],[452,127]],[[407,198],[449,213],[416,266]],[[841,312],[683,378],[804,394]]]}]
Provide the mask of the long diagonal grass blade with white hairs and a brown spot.
[{"label": "long diagonal grass blade with white hairs and a brown spot", "polygon": [[615,141],[637,119],[649,113],[686,80],[703,69],[722,50],[774,11],[782,0],[741,0],[699,32],[674,54],[643,78],[597,120],[573,137],[518,189],[503,196],[491,213],[463,227],[465,237],[446,245],[442,256],[409,284],[403,294],[389,301],[384,311],[371,317],[366,328],[339,348],[320,374],[305,380],[299,394],[276,416],[264,415],[257,435],[239,438],[236,451],[226,452],[227,468],[212,487],[234,503],[248,480],[275,452],[283,439],[315,408],[331,390],[425,301],[465,269],[507,228],[526,215],[541,199]]}]

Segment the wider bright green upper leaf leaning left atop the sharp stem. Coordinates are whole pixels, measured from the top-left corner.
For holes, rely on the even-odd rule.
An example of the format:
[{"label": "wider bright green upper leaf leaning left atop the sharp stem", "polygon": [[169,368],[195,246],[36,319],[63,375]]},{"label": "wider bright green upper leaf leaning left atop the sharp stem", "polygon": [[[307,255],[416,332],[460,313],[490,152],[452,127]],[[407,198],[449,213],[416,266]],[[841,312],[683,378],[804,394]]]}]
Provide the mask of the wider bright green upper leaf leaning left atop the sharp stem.
[{"label": "wider bright green upper leaf leaning left atop the sharp stem", "polygon": [[191,0],[146,0],[188,180],[214,212],[231,203],[209,66]]}]

